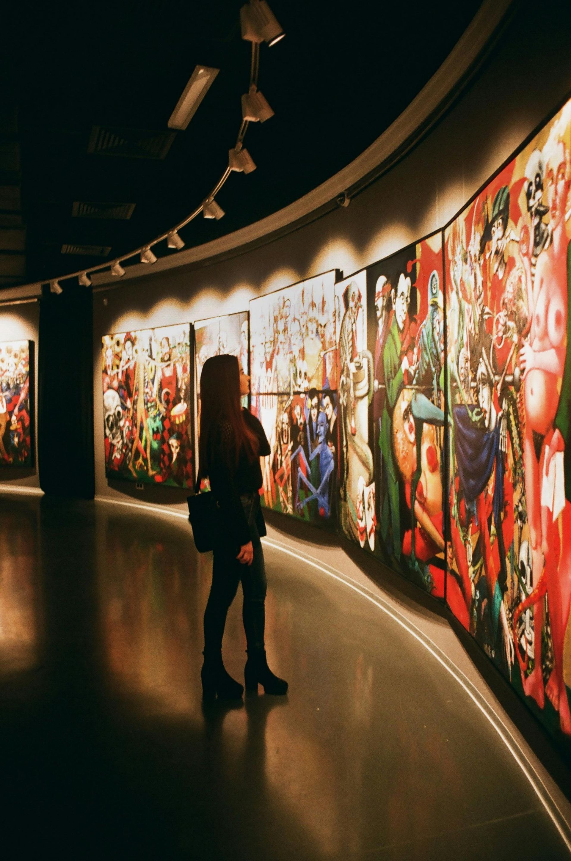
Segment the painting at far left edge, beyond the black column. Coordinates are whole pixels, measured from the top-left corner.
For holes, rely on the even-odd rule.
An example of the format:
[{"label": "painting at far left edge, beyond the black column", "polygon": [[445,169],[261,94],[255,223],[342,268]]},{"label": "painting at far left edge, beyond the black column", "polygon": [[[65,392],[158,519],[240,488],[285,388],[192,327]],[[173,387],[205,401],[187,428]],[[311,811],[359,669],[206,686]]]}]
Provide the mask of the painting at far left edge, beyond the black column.
[{"label": "painting at far left edge, beyond the black column", "polygon": [[33,467],[31,341],[0,344],[0,467]]}]

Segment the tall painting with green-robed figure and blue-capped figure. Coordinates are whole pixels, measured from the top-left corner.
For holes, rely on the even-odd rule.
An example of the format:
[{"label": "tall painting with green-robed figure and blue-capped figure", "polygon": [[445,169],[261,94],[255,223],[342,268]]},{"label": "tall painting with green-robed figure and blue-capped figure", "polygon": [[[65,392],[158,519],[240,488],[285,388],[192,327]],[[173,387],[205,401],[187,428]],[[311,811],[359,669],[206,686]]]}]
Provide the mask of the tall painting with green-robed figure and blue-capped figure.
[{"label": "tall painting with green-robed figure and blue-capped figure", "polygon": [[375,555],[444,598],[441,234],[369,266],[367,291],[369,344],[375,345],[369,413]]}]

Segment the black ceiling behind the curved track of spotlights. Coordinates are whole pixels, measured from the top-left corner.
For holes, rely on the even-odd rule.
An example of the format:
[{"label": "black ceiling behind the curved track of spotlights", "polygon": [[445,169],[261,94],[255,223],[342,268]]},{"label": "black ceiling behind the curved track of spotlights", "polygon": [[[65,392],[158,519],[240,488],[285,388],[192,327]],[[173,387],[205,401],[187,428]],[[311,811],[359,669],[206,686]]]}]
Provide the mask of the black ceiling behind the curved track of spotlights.
[{"label": "black ceiling behind the curved track of spotlights", "polygon": [[[248,83],[240,5],[102,0],[4,10],[0,283],[47,280],[120,256],[208,194],[227,164]],[[226,216],[193,221],[181,232],[187,246],[264,218],[356,158],[438,69],[480,3],[270,5],[286,38],[261,48],[259,89],[276,115],[247,133],[258,170],[230,177],[217,198]],[[164,158],[88,152],[94,127],[165,133],[198,63],[220,74]],[[74,202],[134,209],[128,220],[78,217]],[[64,245],[110,251],[78,256],[62,253]]]}]

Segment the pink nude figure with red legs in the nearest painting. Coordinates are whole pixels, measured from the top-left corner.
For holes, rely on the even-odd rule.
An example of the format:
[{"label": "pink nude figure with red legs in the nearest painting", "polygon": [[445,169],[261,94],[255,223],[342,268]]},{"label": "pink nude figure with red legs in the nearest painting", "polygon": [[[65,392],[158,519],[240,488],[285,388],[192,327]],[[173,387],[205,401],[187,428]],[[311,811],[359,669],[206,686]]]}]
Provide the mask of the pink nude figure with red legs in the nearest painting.
[{"label": "pink nude figure with red legs in the nearest painting", "polygon": [[[531,276],[532,241],[529,228],[522,230],[520,254],[524,263],[531,329],[523,342],[519,363],[524,372],[525,406],[525,497],[530,524],[533,592],[519,605],[533,607],[535,666],[526,678],[525,693],[540,708],[544,705],[541,660],[543,594],[547,592],[555,666],[545,693],[559,711],[561,728],[571,734],[571,715],[563,680],[563,645],[571,598],[571,542],[561,540],[571,529],[571,504],[555,489],[562,486],[561,457],[565,451],[562,432],[555,428],[561,379],[565,366],[568,329],[568,240],[565,215],[571,185],[569,154],[562,141],[550,148],[546,163],[546,192],[549,205],[551,242],[537,258],[535,278]],[[562,399],[568,393],[562,392]],[[552,487],[553,489],[549,489]],[[557,495],[559,501],[555,502]],[[550,502],[548,500],[550,497]],[[548,504],[549,503],[549,504]],[[516,621],[516,620],[514,620]],[[520,661],[521,663],[521,661]]]}]

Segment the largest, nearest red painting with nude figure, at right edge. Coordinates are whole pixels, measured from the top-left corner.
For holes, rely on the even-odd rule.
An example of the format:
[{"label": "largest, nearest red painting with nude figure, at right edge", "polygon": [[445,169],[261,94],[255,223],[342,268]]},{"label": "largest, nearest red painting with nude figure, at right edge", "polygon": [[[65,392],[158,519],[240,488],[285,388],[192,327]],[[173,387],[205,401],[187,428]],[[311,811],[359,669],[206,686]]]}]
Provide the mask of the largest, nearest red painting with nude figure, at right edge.
[{"label": "largest, nearest red painting with nude figure, at right edge", "polygon": [[560,738],[571,736],[570,185],[568,102],[445,231],[448,602]]}]

